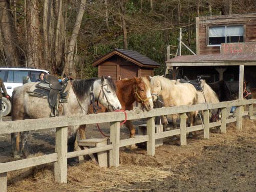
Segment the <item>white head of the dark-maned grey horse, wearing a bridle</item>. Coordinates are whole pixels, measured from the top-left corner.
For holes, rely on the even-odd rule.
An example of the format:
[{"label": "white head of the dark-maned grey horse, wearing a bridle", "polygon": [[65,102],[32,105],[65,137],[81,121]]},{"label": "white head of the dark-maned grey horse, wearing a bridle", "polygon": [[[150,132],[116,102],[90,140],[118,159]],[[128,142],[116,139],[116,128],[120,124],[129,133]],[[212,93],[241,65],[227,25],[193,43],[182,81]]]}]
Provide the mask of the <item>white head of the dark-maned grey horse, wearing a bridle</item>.
[{"label": "white head of the dark-maned grey horse, wearing a bridle", "polygon": [[100,79],[94,82],[93,90],[94,97],[97,98],[97,101],[109,111],[122,108],[116,96],[116,86],[110,77],[101,76]]}]

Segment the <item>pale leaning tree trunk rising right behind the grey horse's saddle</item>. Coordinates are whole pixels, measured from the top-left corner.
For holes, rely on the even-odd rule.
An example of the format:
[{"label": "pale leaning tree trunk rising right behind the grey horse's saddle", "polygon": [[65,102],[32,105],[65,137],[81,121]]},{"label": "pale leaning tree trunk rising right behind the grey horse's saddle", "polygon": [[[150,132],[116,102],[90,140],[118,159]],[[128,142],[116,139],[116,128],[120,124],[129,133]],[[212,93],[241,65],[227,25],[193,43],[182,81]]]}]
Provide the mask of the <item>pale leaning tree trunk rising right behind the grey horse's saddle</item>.
[{"label": "pale leaning tree trunk rising right behind the grey horse's saddle", "polygon": [[69,41],[69,47],[68,47],[68,53],[67,53],[67,61],[65,63],[63,72],[61,74],[61,77],[63,77],[65,74],[68,76],[70,73],[72,74],[72,78],[76,78],[76,69],[75,69],[75,63],[74,63],[74,47],[77,40],[77,35],[81,26],[82,17],[84,13],[84,9],[86,7],[86,0],[81,0],[80,8],[76,17],[75,27],[73,29],[70,41]]}]

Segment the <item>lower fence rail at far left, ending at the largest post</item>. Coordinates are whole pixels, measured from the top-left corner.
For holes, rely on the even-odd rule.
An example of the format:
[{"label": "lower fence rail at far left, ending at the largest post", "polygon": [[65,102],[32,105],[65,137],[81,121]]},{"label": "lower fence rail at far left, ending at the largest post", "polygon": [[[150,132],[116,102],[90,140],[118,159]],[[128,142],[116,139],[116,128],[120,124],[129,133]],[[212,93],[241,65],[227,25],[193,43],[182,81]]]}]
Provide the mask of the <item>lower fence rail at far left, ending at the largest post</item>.
[{"label": "lower fence rail at far left, ending at the largest post", "polygon": [[50,155],[43,155],[39,157],[32,157],[28,159],[11,161],[7,163],[0,163],[0,173],[11,172],[12,170],[18,170],[18,169],[28,168],[36,165],[51,163],[57,160],[58,160],[57,153],[53,153]]}]

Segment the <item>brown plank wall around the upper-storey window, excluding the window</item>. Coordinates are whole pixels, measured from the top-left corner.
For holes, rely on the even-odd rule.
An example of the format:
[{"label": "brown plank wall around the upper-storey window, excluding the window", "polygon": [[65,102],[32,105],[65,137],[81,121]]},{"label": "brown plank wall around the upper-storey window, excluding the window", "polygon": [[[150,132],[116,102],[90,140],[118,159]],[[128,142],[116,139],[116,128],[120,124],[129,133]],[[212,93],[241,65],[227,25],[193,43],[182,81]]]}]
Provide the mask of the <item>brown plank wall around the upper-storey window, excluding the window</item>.
[{"label": "brown plank wall around the upper-storey window, excluding the window", "polygon": [[244,42],[256,41],[256,13],[197,17],[197,54],[219,54],[220,47],[211,47],[207,45],[208,28],[211,26],[226,25],[243,25]]}]

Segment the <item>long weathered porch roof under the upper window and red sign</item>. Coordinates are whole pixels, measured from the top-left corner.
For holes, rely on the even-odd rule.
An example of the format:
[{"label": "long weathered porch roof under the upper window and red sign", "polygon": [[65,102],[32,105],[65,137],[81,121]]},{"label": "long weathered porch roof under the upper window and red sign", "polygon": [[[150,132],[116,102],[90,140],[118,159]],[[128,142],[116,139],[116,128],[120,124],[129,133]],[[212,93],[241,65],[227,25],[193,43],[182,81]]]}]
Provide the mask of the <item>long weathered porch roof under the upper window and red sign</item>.
[{"label": "long weathered porch roof under the upper window and red sign", "polygon": [[244,54],[212,54],[212,55],[182,55],[172,58],[166,62],[207,62],[207,61],[246,61],[255,62],[255,53]]}]

